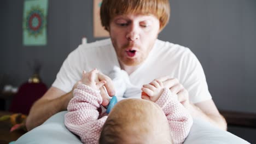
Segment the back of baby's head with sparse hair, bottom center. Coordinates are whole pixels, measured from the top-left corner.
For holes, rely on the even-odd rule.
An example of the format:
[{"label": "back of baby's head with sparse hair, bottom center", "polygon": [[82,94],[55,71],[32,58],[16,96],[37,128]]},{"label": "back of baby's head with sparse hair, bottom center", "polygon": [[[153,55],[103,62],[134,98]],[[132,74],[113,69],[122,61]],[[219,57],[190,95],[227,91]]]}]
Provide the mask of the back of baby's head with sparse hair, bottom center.
[{"label": "back of baby's head with sparse hair, bottom center", "polygon": [[99,143],[172,143],[167,118],[149,100],[117,103],[102,127]]}]

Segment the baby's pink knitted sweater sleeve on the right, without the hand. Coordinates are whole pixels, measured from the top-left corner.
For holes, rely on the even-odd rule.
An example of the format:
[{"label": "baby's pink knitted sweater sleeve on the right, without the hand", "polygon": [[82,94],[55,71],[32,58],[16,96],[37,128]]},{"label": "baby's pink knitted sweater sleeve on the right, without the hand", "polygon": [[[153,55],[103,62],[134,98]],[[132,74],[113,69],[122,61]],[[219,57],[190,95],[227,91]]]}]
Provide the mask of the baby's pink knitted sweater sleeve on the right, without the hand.
[{"label": "baby's pink knitted sweater sleeve on the right, without the hand", "polygon": [[167,88],[164,89],[155,103],[161,107],[166,115],[173,143],[183,143],[193,124],[193,118],[188,110]]}]

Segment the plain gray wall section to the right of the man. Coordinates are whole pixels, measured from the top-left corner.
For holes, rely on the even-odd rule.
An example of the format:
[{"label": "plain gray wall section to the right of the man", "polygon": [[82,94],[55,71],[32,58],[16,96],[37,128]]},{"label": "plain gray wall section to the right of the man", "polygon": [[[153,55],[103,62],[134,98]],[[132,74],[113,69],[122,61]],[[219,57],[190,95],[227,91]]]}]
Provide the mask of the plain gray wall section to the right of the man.
[{"label": "plain gray wall section to the right of the man", "polygon": [[170,1],[160,39],[199,58],[219,109],[256,112],[256,1]]}]

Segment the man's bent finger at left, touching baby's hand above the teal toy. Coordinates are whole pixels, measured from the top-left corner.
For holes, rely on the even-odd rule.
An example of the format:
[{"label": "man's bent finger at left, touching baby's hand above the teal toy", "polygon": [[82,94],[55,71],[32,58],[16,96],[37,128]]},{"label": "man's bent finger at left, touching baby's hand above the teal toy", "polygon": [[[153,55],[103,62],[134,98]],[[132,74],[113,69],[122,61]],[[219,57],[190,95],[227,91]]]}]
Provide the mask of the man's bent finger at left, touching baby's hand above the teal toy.
[{"label": "man's bent finger at left, touching baby's hand above the teal toy", "polygon": [[106,84],[104,86],[106,87],[109,96],[115,95],[114,84],[113,84],[112,80],[107,75],[98,73],[98,80],[106,81]]}]

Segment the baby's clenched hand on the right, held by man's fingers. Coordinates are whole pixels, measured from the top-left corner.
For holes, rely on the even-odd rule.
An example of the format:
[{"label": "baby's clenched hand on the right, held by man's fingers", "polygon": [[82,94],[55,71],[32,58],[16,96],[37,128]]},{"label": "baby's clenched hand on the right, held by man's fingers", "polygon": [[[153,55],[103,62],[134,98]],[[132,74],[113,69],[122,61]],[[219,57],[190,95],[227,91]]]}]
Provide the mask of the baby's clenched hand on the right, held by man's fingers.
[{"label": "baby's clenched hand on the right, held by man's fingers", "polygon": [[155,102],[158,100],[162,92],[164,91],[164,85],[159,80],[154,80],[147,85],[143,85],[142,90],[142,99],[147,99]]}]

